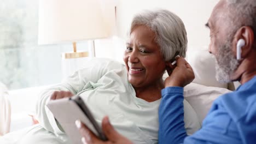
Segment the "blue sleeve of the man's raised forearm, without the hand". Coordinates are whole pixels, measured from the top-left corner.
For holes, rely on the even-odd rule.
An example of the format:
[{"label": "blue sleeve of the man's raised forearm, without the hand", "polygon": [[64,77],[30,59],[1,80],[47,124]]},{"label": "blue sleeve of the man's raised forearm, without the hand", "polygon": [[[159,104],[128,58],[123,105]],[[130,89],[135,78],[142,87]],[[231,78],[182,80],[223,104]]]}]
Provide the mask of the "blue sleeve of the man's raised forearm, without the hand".
[{"label": "blue sleeve of the man's raised forearm, without the hand", "polygon": [[183,143],[187,133],[184,124],[183,87],[162,89],[159,106],[159,143]]}]

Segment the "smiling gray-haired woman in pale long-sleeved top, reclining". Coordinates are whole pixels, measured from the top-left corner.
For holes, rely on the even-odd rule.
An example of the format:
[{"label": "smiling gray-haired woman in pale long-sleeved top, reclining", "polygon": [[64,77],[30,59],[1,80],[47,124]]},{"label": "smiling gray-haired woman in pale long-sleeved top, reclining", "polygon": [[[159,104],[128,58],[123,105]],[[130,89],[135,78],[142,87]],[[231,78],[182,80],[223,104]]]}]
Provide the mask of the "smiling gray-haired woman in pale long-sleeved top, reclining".
[{"label": "smiling gray-haired woman in pale long-sleeved top, reclining", "polygon": [[[132,142],[158,143],[158,107],[165,87],[162,77],[170,60],[184,57],[186,49],[187,34],[178,16],[167,10],[136,15],[124,52],[125,65],[96,59],[42,93],[37,105],[39,125],[28,130],[22,142],[71,143],[45,105],[50,99],[79,94],[99,124],[108,115],[115,130]],[[185,127],[191,134],[200,125],[191,125],[197,119],[186,119],[190,107],[184,105]],[[79,121],[77,125],[81,125]]]}]

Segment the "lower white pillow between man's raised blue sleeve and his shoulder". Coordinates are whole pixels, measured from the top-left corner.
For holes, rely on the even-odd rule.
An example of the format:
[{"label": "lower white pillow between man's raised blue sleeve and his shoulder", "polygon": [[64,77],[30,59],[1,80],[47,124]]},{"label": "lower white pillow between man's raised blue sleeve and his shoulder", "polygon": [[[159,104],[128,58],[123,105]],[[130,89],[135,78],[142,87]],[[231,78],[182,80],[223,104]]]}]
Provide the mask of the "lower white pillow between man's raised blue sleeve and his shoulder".
[{"label": "lower white pillow between man's raised blue sleeve and his shoulder", "polygon": [[220,95],[229,93],[226,88],[207,87],[197,83],[190,83],[184,87],[184,98],[197,113],[200,124],[210,110],[212,103]]}]

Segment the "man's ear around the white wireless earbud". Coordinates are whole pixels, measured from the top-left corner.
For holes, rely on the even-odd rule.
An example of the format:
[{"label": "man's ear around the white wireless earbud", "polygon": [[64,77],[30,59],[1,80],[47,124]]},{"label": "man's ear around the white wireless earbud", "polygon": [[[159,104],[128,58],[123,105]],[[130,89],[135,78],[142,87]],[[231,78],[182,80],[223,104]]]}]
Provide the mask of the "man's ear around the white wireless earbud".
[{"label": "man's ear around the white wireless earbud", "polygon": [[233,45],[232,45],[232,51],[237,53],[237,44],[240,39],[245,40],[245,45],[241,47],[241,58],[246,58],[247,55],[251,52],[253,49],[253,43],[254,43],[254,33],[253,29],[248,26],[243,26],[239,28],[234,36]]}]

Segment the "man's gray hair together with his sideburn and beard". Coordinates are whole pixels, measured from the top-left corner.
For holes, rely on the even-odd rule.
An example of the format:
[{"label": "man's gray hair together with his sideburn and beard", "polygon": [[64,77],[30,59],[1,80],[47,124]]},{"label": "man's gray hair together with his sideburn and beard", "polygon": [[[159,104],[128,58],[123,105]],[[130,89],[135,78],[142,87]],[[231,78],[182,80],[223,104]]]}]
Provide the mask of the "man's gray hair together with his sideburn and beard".
[{"label": "man's gray hair together with his sideburn and beard", "polygon": [[[253,2],[254,1],[254,2]],[[249,26],[253,29],[254,34],[256,31],[256,3],[255,0],[223,0],[224,8],[223,13],[217,16],[225,20],[222,27],[226,29],[225,44],[218,47],[216,55],[216,78],[219,82],[230,82],[231,74],[237,69],[239,61],[230,50],[232,47],[232,40],[239,28],[242,26]],[[254,40],[255,41],[255,40]]]}]

